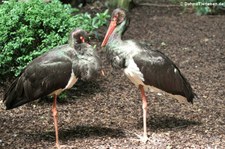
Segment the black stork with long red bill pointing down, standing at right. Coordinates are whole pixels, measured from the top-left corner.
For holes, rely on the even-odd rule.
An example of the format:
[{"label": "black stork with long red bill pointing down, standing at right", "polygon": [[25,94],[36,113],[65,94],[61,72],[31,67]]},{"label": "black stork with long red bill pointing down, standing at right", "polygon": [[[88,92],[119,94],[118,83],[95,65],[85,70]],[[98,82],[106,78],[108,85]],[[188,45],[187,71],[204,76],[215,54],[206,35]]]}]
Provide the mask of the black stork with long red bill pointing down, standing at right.
[{"label": "black stork with long red bill pointing down, standing at right", "polygon": [[126,12],[119,8],[115,9],[101,46],[106,46],[106,53],[112,66],[122,68],[125,75],[141,91],[144,134],[137,136],[145,143],[148,141],[145,90],[166,92],[180,101],[191,103],[195,93],[177,66],[162,52],[152,50],[147,43],[121,39],[128,23]]}]

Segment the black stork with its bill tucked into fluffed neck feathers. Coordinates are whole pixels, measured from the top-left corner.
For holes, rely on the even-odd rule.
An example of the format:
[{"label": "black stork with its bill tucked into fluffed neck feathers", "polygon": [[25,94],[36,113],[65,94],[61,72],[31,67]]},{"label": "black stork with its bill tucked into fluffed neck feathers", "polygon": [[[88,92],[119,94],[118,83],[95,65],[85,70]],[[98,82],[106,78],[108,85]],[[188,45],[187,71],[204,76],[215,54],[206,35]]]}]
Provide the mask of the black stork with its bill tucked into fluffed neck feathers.
[{"label": "black stork with its bill tucked into fluffed neck feathers", "polygon": [[95,78],[101,67],[100,58],[91,45],[85,42],[86,37],[85,31],[73,30],[68,44],[55,47],[34,59],[4,95],[6,109],[16,108],[43,96],[54,96],[52,113],[57,148],[57,96],[71,88],[78,79]]}]

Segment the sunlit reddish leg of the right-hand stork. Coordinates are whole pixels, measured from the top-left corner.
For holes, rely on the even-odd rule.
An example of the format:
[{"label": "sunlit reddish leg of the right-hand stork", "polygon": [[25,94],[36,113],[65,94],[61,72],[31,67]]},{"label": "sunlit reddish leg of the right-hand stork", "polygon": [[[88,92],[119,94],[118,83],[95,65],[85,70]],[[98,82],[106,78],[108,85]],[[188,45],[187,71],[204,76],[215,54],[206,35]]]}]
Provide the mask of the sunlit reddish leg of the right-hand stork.
[{"label": "sunlit reddish leg of the right-hand stork", "polygon": [[139,85],[139,89],[141,91],[141,98],[142,98],[142,109],[143,109],[143,128],[144,128],[144,134],[141,140],[143,142],[146,142],[148,140],[147,136],[147,98],[145,96],[145,90],[142,85]]}]

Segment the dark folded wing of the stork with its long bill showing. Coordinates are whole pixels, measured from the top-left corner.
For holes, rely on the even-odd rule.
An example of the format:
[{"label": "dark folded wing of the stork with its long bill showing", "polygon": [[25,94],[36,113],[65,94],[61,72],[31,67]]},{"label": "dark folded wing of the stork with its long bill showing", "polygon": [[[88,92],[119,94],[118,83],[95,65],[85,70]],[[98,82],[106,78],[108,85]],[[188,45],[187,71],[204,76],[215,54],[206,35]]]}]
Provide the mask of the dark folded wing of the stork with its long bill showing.
[{"label": "dark folded wing of the stork with its long bill showing", "polygon": [[133,57],[143,73],[144,83],[174,95],[181,95],[193,102],[194,93],[189,82],[176,65],[157,50],[143,49]]}]

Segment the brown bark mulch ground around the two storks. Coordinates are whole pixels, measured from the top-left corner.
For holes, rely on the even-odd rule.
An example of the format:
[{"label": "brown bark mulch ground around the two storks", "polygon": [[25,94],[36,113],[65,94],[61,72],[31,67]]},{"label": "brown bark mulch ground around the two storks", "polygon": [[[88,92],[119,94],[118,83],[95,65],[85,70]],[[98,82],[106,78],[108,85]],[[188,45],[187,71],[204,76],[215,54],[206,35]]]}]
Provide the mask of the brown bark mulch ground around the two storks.
[{"label": "brown bark mulch ground around the two storks", "polygon": [[[147,93],[150,141],[142,134],[138,89],[106,62],[107,74],[79,82],[58,103],[59,139],[65,148],[225,148],[225,16],[196,16],[179,7],[139,6],[130,12],[124,38],[145,40],[164,52],[190,81],[199,99],[180,104],[166,95]],[[101,28],[101,36],[106,27]],[[95,44],[95,43],[93,43]],[[0,98],[5,87],[0,88]],[[51,102],[35,101],[5,111],[0,104],[0,148],[53,148]]]}]

